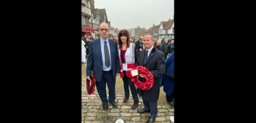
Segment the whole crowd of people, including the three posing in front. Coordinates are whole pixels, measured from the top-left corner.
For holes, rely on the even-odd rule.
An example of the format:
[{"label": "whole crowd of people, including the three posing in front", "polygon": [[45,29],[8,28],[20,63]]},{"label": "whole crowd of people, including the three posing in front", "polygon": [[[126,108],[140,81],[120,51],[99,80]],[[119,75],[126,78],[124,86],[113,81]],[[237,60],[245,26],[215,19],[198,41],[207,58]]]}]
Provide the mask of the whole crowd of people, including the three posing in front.
[{"label": "whole crowd of people, including the three posing in front", "polygon": [[[83,55],[86,54],[83,53],[83,46],[88,46],[86,77],[90,81],[90,77],[94,75],[104,110],[108,109],[107,102],[115,108],[118,107],[115,102],[115,84],[116,77],[119,75],[123,79],[125,90],[123,102],[127,102],[129,91],[131,91],[133,98],[131,109],[136,109],[139,102],[138,96],[142,97],[144,108],[138,109],[137,112],[151,113],[147,123],[153,123],[157,117],[160,86],[164,86],[166,100],[174,107],[172,102],[174,98],[174,38],[170,42],[164,39],[164,42],[161,42],[153,39],[151,34],[145,34],[143,40],[132,40],[129,39],[127,30],[121,30],[117,38],[108,38],[110,30],[107,23],[101,23],[99,33],[101,34],[99,38],[88,38],[88,36],[82,38],[82,62]],[[131,70],[136,66],[147,68],[153,75],[154,84],[149,90],[142,90],[131,81]],[[142,83],[146,81],[143,74],[137,75],[139,81]],[[106,83],[109,89],[108,98]]]}]

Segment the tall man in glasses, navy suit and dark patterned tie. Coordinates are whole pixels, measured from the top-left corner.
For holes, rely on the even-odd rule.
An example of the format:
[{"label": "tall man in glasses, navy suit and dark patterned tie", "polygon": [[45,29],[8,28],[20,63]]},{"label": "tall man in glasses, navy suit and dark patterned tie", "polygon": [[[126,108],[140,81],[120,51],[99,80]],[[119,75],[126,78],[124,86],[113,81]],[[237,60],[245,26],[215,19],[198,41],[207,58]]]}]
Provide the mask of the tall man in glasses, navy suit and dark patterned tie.
[{"label": "tall man in glasses, navy suit and dark patterned tie", "polygon": [[[110,27],[107,23],[101,23],[99,33],[101,37],[90,42],[86,76],[90,80],[93,72],[99,97],[101,98],[101,102],[103,102],[103,109],[107,110],[108,101],[113,107],[117,107],[114,100],[116,98],[116,76],[120,74],[120,59],[117,43],[107,38],[110,33]],[[110,95],[108,99],[106,83]]]}]

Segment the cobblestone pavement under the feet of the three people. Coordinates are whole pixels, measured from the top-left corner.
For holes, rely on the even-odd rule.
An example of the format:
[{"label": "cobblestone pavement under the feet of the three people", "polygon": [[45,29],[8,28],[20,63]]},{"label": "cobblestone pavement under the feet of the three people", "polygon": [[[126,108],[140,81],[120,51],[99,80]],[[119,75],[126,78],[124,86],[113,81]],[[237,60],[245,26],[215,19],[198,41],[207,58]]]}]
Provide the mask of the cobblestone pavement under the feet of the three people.
[{"label": "cobblestone pavement under the feet of the three people", "polygon": [[[162,90],[162,88],[163,87],[160,89]],[[108,89],[106,88],[106,90],[108,97]],[[82,76],[81,123],[115,123],[118,119],[122,119],[125,123],[144,123],[149,119],[150,113],[137,113],[138,109],[144,107],[142,98],[139,98],[140,102],[136,109],[131,109],[131,105],[133,105],[131,92],[127,102],[123,102],[123,98],[125,98],[124,92],[116,92],[115,101],[118,104],[118,108],[114,108],[110,102],[108,102],[108,109],[107,111],[104,111],[97,89],[95,88],[94,93],[88,96],[86,91],[86,78]],[[155,118],[155,122],[171,122],[170,116],[174,116],[174,107],[166,102],[165,95],[162,97],[159,96],[159,100],[157,100],[157,109],[157,118]]]}]

